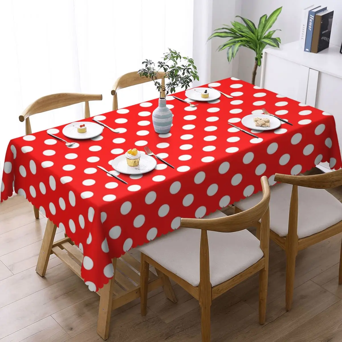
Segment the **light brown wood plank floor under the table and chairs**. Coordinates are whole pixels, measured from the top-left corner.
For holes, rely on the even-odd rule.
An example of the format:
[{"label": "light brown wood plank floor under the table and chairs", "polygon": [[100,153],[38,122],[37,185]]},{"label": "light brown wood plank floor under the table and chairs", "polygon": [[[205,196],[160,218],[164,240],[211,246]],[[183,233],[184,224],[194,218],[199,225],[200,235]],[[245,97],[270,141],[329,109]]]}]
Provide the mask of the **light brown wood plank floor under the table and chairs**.
[{"label": "light brown wood plank floor under the table and chairs", "polygon": [[[342,188],[332,193],[342,200]],[[20,196],[0,207],[0,342],[102,341],[96,333],[98,295],[55,255],[44,278],[35,272],[46,220],[35,220]],[[337,235],[298,253],[293,308],[286,312],[285,253],[271,241],[266,324],[258,324],[254,276],[213,301],[212,341],[341,342],[340,246]],[[161,289],[150,293],[145,317],[139,300],[113,311],[107,341],[200,341],[198,302],[178,285],[174,290],[177,304]]]}]

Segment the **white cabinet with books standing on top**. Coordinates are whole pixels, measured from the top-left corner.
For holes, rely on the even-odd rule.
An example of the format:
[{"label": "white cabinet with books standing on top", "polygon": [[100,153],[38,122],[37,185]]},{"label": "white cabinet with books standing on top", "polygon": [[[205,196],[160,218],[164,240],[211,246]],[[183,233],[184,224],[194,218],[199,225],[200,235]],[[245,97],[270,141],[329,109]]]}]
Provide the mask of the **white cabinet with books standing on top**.
[{"label": "white cabinet with books standing on top", "polygon": [[[304,52],[299,42],[265,49],[260,87],[324,110],[334,116],[342,153],[342,54],[337,46]],[[329,171],[327,164],[319,166]]]}]

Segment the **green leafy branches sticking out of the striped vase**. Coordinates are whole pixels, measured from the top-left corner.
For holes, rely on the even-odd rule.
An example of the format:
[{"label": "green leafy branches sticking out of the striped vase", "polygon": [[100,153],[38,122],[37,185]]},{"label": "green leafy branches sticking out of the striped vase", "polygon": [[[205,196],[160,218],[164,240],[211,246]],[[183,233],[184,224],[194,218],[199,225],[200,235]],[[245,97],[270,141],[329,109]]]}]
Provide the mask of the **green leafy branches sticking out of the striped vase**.
[{"label": "green leafy branches sticking out of the striped vase", "polygon": [[[142,62],[143,68],[138,71],[140,76],[145,76],[152,80],[160,93],[160,98],[164,98],[169,93],[174,93],[177,87],[188,89],[190,83],[199,80],[197,67],[194,60],[189,57],[182,57],[175,50],[169,49],[163,56],[163,60],[157,62],[158,69],[155,68],[155,63],[151,60]],[[159,71],[165,73],[162,78],[168,78],[168,82],[161,84],[157,81],[160,79]]]}]

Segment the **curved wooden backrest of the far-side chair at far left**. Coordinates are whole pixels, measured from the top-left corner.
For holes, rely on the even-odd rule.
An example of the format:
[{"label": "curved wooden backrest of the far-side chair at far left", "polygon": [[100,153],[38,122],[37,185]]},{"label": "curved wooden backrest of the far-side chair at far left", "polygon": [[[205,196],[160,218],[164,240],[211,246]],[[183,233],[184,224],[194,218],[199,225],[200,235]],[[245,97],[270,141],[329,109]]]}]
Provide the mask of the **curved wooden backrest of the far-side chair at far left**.
[{"label": "curved wooden backrest of the far-side chair at far left", "polygon": [[84,118],[90,117],[89,101],[102,100],[101,94],[78,94],[78,93],[58,93],[43,96],[38,98],[35,102],[31,103],[19,116],[19,120],[23,122],[25,120],[26,135],[31,134],[31,124],[29,117],[37,113],[43,113],[44,111],[57,109],[61,107],[70,106],[76,103],[85,102]]}]

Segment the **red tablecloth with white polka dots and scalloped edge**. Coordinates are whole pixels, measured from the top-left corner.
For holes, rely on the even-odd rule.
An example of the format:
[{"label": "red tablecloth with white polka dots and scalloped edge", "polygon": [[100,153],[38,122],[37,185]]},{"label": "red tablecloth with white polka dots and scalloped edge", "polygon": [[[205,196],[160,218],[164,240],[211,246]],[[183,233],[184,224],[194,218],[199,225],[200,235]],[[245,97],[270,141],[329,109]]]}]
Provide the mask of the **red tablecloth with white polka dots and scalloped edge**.
[{"label": "red tablecloth with white polka dots and scalloped edge", "polygon": [[[236,78],[210,86],[234,98],[221,96],[193,108],[168,96],[174,117],[167,134],[154,132],[155,99],[96,117],[120,134],[105,128],[100,136],[75,140],[70,148],[47,131],[11,140],[1,201],[14,186],[62,227],[83,252],[81,275],[94,291],[113,276],[111,258],[172,232],[181,217],[201,218],[257,193],[262,175],[273,185],[276,172],[298,174],[321,161],[341,167],[335,122],[328,113]],[[184,92],[177,95],[185,98]],[[293,126],[252,130],[257,139],[228,125],[243,127],[241,118],[261,114],[262,107]],[[62,128],[48,131],[62,136]],[[126,185],[96,168],[113,170],[111,160],[145,145],[175,169],[158,161],[144,175],[120,174]]]}]

